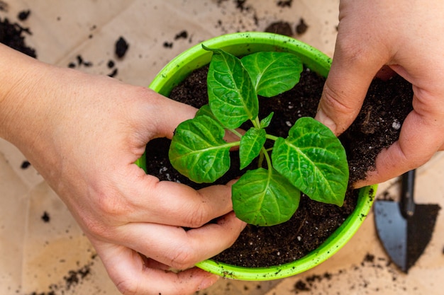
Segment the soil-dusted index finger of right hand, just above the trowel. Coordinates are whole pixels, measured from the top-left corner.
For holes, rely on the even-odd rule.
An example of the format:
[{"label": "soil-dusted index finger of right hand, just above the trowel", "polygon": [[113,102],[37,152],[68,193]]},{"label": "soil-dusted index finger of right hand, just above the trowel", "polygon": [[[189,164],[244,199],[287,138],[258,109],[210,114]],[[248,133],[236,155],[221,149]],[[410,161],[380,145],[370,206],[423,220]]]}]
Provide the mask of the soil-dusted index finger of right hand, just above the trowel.
[{"label": "soil-dusted index finger of right hand, just above the trowel", "polygon": [[443,149],[443,130],[442,115],[422,116],[411,112],[401,127],[398,141],[381,151],[375,161],[375,170],[369,171],[367,178],[354,186],[382,183],[423,165],[436,151]]}]

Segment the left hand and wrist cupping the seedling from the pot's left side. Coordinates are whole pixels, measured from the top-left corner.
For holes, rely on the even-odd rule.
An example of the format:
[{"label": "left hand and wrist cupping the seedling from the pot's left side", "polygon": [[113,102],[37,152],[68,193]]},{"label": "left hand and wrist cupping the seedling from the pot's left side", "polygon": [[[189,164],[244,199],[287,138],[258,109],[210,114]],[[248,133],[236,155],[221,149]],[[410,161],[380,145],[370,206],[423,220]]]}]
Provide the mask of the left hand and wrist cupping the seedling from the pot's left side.
[{"label": "left hand and wrist cupping the seedling from the pot's left side", "polygon": [[[0,48],[0,76],[9,71],[4,85],[11,86],[0,91],[0,137],[67,204],[119,291],[192,294],[216,282],[193,265],[228,248],[243,229],[231,212],[231,187],[196,191],[134,164],[150,139],[172,137],[196,110],[148,88]],[[9,63],[17,70],[6,70]]]}]

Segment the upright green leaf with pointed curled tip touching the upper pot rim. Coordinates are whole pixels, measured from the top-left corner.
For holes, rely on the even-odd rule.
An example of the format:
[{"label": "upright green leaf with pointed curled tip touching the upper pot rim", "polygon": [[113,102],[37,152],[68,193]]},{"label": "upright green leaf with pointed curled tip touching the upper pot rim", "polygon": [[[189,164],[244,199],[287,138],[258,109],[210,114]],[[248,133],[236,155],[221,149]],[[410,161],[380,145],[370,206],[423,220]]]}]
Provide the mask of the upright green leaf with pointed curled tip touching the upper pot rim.
[{"label": "upright green leaf with pointed curled tip touching the upper pot rim", "polygon": [[[203,46],[204,47],[204,46]],[[224,127],[235,129],[259,112],[257,94],[240,59],[222,50],[211,50],[207,76],[209,105]]]}]

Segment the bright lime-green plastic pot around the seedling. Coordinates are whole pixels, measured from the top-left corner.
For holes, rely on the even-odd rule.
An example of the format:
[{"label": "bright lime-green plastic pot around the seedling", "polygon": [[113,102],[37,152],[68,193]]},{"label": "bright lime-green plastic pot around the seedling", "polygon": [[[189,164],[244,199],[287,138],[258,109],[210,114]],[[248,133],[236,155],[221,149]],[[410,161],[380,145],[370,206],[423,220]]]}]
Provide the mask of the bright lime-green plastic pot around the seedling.
[{"label": "bright lime-green plastic pot around the seedling", "polygon": [[[319,50],[291,37],[272,33],[234,33],[215,37],[203,43],[207,47],[223,49],[236,56],[258,51],[293,52],[312,71],[322,76],[327,76],[331,66],[331,59]],[[167,64],[152,81],[150,88],[163,96],[168,96],[174,86],[177,86],[195,69],[209,64],[210,60],[211,52],[202,49],[201,44],[195,45]],[[145,157],[140,158],[137,164],[145,169]],[[357,207],[353,214],[348,216],[348,219],[333,232],[327,241],[304,258],[271,267],[238,267],[211,259],[199,262],[196,266],[221,277],[250,281],[282,279],[310,270],[331,258],[355,234],[372,207],[376,190],[377,185],[360,189]]]}]

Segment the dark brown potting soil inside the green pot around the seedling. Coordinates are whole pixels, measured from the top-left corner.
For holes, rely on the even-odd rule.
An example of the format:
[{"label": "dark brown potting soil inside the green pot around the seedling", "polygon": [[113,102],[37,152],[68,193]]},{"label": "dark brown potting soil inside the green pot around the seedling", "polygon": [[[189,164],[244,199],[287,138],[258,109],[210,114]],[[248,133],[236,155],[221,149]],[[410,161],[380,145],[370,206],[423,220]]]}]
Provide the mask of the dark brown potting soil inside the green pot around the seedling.
[{"label": "dark brown potting soil inside the green pot around the seedling", "polygon": [[[196,108],[208,103],[207,71],[208,67],[194,71],[172,90],[170,98]],[[313,117],[324,82],[323,77],[305,69],[300,82],[291,91],[274,98],[260,98],[260,117],[274,112],[272,125],[267,127],[267,132],[287,137],[289,128],[299,117]],[[412,110],[412,95],[411,84],[400,76],[387,81],[373,81],[360,115],[347,132],[340,136],[348,154],[350,183],[365,178],[367,170],[374,168],[379,151],[398,139],[401,124]],[[169,146],[168,139],[155,139],[148,143],[148,173],[156,175],[160,180],[177,181],[196,189],[208,185],[192,183],[174,170],[168,161]],[[232,157],[231,169],[218,183],[227,183],[244,173],[238,167],[236,159]],[[277,226],[247,226],[235,244],[214,259],[231,265],[266,267],[302,258],[338,229],[355,209],[356,200],[357,190],[351,189],[348,190],[343,207],[314,202],[302,196],[299,209],[292,219]]]}]

